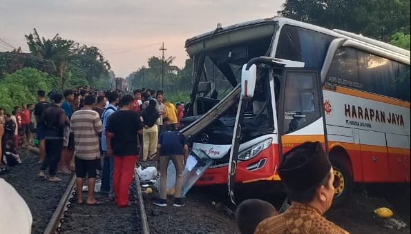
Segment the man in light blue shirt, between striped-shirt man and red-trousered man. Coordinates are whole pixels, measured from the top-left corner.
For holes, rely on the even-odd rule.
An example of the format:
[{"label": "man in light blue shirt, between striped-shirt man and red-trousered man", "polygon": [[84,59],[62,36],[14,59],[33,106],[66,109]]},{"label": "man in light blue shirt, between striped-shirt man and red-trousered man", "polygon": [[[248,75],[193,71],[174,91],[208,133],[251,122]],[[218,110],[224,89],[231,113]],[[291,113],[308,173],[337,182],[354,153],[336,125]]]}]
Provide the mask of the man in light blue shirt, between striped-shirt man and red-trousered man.
[{"label": "man in light blue shirt, between striped-shirt man and red-trousered man", "polygon": [[102,114],[103,133],[102,133],[102,151],[103,151],[103,175],[102,175],[102,188],[101,190],[108,193],[108,199],[114,201],[113,190],[113,173],[114,173],[114,158],[113,155],[107,153],[107,141],[106,141],[106,128],[108,124],[108,118],[117,111],[117,104],[119,97],[117,92],[107,93],[108,106]]}]

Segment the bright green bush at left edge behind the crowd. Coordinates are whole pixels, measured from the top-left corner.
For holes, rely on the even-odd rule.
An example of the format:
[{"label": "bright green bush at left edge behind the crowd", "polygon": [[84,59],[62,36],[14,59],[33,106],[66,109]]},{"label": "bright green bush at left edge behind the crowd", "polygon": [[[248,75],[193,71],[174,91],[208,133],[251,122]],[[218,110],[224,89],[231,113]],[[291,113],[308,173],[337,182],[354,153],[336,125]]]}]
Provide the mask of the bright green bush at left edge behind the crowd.
[{"label": "bright green bush at left edge behind the crowd", "polygon": [[15,106],[36,102],[37,90],[52,90],[54,77],[34,68],[17,70],[0,80],[0,106],[10,113]]}]

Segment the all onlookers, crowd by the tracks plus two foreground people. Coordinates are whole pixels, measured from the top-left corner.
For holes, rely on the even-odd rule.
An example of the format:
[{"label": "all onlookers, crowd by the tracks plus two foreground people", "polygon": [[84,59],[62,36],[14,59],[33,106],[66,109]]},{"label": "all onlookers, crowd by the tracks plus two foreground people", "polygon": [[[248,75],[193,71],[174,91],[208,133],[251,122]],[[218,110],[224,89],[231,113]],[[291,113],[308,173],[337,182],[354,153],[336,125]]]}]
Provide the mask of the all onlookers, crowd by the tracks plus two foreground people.
[{"label": "all onlookers, crowd by the tracks plus two foreground people", "polygon": [[[154,204],[164,207],[167,167],[172,161],[176,172],[173,206],[184,206],[182,173],[189,147],[177,131],[184,104],[171,104],[162,90],[134,90],[133,95],[122,96],[113,91],[97,95],[84,88],[50,92],[50,101],[43,90],[37,95],[35,106],[16,106],[11,115],[0,108],[1,168],[21,164],[19,147],[34,148],[36,143],[39,177],[59,182],[58,173],[74,170],[77,191],[82,191],[85,179],[88,183],[86,199],[78,193],[77,203],[96,205],[102,202],[94,196],[99,175],[106,202],[126,207],[140,155],[141,161],[158,162],[160,199]],[[323,217],[332,205],[334,173],[321,143],[305,142],[289,150],[278,174],[291,205],[277,212],[268,202],[245,200],[236,211],[240,233],[347,233]]]}]

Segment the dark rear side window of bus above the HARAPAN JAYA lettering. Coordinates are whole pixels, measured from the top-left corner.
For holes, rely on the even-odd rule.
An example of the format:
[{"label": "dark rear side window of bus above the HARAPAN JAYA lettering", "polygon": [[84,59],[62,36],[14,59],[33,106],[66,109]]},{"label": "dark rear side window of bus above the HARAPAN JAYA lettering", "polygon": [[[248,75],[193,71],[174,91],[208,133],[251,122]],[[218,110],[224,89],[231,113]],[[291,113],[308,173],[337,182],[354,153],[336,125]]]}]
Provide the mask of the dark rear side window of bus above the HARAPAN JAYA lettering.
[{"label": "dark rear side window of bus above the HARAPAN JAYA lettering", "polygon": [[326,82],[410,101],[410,66],[355,48],[338,48]]}]

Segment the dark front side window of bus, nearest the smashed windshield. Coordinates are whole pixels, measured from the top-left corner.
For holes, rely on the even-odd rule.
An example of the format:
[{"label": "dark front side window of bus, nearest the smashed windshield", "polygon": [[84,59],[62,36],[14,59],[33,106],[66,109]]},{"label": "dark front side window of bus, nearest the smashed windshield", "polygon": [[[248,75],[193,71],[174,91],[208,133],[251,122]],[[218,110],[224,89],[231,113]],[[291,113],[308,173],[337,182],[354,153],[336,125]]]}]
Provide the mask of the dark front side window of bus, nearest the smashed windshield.
[{"label": "dark front side window of bus, nearest the smashed windshield", "polygon": [[302,61],[306,68],[320,69],[333,39],[320,32],[285,25],[280,31],[276,58]]}]

